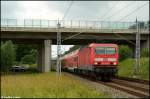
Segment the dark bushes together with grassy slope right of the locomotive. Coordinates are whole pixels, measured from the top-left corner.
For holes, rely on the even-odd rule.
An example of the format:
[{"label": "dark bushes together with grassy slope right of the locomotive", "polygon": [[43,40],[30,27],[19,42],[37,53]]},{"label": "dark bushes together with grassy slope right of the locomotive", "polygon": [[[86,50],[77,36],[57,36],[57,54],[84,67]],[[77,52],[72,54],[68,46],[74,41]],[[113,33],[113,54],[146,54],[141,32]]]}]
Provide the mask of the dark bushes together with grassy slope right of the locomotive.
[{"label": "dark bushes together with grassy slope right of the locomotive", "polygon": [[[133,77],[135,75],[135,59],[131,58],[133,52],[127,46],[119,47],[119,76]],[[149,80],[149,49],[143,48],[141,51],[139,72],[136,74],[139,79]]]}]

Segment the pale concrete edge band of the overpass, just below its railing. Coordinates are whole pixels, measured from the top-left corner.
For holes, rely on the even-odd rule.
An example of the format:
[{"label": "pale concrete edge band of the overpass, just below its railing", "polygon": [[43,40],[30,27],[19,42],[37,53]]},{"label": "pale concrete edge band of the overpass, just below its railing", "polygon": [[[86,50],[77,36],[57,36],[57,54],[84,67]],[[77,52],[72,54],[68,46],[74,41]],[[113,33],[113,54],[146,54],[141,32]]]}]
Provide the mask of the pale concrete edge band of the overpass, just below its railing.
[{"label": "pale concrete edge band of the overpass, just below its railing", "polygon": [[[57,32],[57,28],[39,28],[39,27],[1,27],[1,31],[16,31],[16,32]],[[66,33],[136,33],[135,29],[92,29],[92,28],[61,28],[61,32]],[[141,34],[149,34],[148,30],[141,29]]]}]

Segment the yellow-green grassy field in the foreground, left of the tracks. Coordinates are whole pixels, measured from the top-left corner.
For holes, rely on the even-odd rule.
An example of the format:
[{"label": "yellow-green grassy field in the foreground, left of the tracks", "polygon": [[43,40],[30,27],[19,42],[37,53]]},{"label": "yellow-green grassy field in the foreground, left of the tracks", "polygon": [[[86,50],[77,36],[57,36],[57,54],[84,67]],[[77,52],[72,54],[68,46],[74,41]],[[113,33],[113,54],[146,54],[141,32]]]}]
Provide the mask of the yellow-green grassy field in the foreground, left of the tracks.
[{"label": "yellow-green grassy field in the foreground, left of the tracks", "polygon": [[108,93],[97,92],[81,81],[62,73],[57,81],[55,72],[2,75],[1,96],[40,98],[110,98]]}]

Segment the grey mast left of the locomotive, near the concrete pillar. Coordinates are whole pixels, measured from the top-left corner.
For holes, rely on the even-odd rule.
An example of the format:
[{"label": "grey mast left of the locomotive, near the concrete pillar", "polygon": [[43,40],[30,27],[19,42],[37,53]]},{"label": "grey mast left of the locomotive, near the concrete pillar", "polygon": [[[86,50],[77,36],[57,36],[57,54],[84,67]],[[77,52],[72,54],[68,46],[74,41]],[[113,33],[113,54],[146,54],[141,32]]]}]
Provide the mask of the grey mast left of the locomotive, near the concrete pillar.
[{"label": "grey mast left of the locomotive, near the concrete pillar", "polygon": [[57,74],[61,75],[61,32],[60,32],[60,23],[57,24]]}]

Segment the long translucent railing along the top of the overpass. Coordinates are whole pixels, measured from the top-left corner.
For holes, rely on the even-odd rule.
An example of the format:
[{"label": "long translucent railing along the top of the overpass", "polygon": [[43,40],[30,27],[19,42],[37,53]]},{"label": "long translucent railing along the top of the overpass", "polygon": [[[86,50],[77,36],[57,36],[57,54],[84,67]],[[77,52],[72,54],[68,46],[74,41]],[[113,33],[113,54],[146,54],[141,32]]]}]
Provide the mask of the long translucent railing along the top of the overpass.
[{"label": "long translucent railing along the top of the overpass", "polygon": [[[1,19],[2,27],[40,27],[57,28],[58,20],[36,20],[36,19]],[[59,20],[62,28],[81,29],[136,29],[135,22],[105,22],[105,21],[82,21],[82,20]],[[144,23],[144,29],[149,25]]]}]

